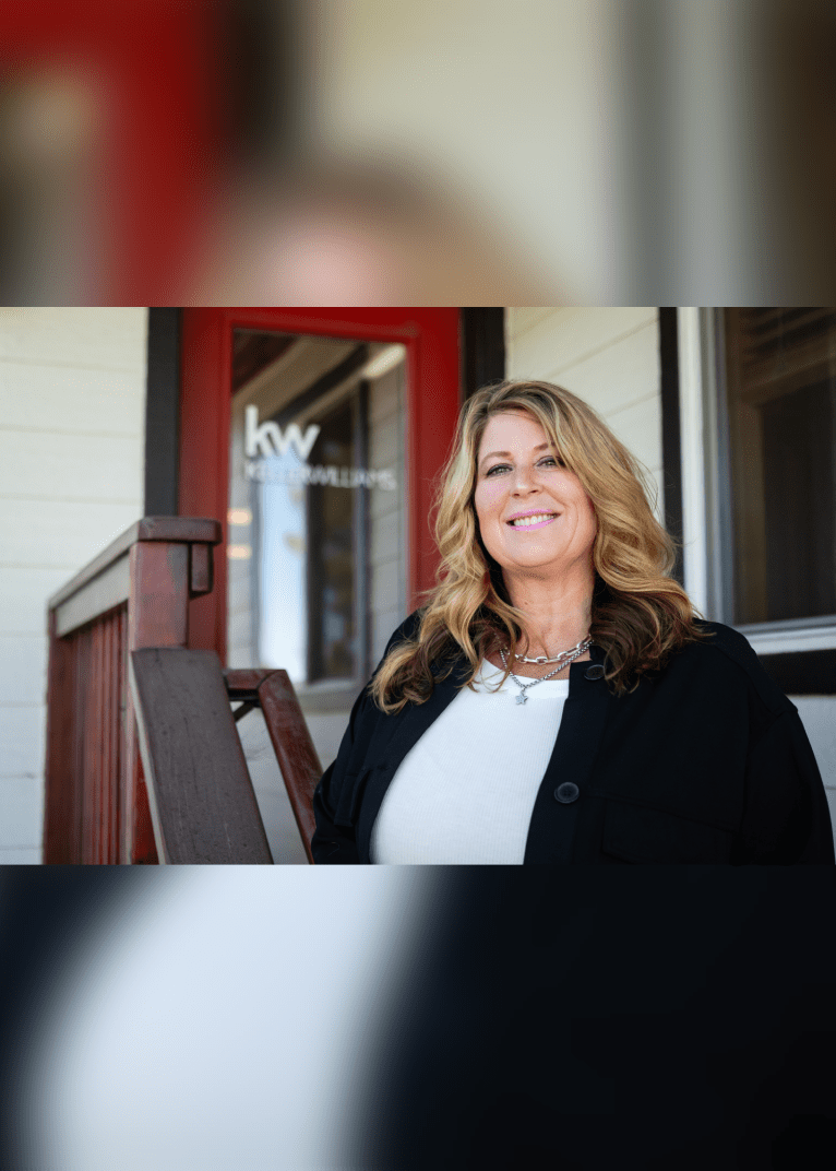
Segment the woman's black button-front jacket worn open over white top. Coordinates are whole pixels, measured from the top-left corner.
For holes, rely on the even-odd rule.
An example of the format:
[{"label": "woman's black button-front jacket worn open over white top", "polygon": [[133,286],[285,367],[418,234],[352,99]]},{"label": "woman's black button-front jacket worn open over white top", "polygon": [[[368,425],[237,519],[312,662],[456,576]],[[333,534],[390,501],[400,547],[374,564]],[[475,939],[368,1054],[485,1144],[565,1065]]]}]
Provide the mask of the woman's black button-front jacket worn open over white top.
[{"label": "woman's black button-front jacket worn open over white top", "polygon": [[[389,639],[409,637],[410,615]],[[569,667],[552,756],[528,828],[526,863],[830,863],[824,787],[797,708],[742,635],[712,637],[616,698],[603,652]],[[455,660],[423,704],[387,715],[367,689],[317,786],[317,863],[369,862],[372,827],[398,767],[455,698]]]}]

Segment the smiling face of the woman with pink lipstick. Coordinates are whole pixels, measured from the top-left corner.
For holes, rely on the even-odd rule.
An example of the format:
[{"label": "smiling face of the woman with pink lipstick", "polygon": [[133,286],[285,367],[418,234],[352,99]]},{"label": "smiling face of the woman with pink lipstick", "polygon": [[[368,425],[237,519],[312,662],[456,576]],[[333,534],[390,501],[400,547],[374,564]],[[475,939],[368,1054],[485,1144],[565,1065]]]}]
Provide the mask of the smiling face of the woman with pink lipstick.
[{"label": "smiling face of the woman with pink lipstick", "polygon": [[495,415],[479,443],[474,505],[485,548],[509,574],[592,577],[595,511],[580,480],[521,411]]}]

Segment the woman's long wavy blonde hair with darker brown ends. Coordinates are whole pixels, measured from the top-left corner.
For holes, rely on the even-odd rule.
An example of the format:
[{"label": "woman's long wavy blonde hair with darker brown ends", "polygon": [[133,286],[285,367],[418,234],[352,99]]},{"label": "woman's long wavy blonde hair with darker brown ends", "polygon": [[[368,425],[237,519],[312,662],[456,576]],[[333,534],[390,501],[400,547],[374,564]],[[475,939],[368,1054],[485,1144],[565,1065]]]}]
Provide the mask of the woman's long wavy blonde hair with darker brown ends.
[{"label": "woman's long wavy blonde hair with darker brown ends", "polygon": [[436,493],[436,586],[415,636],[389,650],[369,685],[385,712],[424,703],[462,655],[471,669],[464,684],[472,684],[497,637],[506,645],[525,643],[525,615],[511,605],[474,506],[482,436],[488,420],[506,411],[524,411],[540,424],[595,509],[589,632],[606,653],[610,689],[633,691],[672,651],[706,637],[685,590],[669,576],[675,545],[654,516],[649,473],[576,395],[547,382],[503,382],[477,391],[462,409]]}]

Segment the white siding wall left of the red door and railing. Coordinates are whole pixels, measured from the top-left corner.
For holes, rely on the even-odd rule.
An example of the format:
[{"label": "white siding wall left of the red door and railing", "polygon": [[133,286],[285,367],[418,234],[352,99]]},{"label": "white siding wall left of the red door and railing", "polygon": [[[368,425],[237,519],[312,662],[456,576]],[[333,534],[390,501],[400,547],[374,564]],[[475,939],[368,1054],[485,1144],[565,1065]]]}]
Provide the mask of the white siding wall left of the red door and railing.
[{"label": "white siding wall left of the red door and railing", "polygon": [[147,310],[0,309],[0,862],[40,862],[46,603],[143,511]]}]

